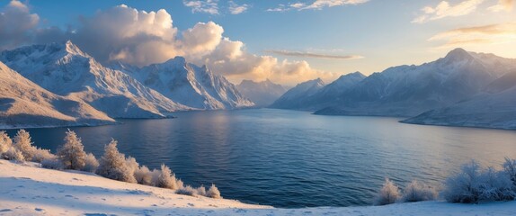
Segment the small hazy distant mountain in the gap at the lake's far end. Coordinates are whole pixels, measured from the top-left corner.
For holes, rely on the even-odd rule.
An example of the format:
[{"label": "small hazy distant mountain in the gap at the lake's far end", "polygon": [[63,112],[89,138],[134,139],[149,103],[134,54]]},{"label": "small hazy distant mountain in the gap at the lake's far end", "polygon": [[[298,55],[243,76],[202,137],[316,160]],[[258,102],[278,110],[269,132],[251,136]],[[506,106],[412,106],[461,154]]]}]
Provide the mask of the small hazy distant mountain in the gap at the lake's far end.
[{"label": "small hazy distant mountain in the gap at the lake's far end", "polygon": [[236,88],[240,93],[244,94],[245,97],[249,98],[256,107],[266,107],[274,103],[274,101],[282,94],[287,92],[287,89],[283,85],[272,83],[271,80],[267,79],[262,82],[254,82],[253,80],[242,80]]}]

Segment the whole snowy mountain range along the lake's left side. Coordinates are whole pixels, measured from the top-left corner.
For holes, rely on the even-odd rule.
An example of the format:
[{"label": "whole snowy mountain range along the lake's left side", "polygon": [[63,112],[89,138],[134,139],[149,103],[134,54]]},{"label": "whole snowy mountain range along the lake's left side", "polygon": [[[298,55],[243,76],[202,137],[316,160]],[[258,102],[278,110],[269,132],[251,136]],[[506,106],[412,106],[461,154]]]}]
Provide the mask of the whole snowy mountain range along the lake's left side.
[{"label": "whole snowy mountain range along the lake's left side", "polygon": [[[4,50],[0,53],[0,62],[3,62],[4,71],[19,73],[18,78],[31,82],[31,89],[44,92],[44,98],[80,103],[90,112],[96,110],[91,115],[96,119],[92,120],[102,122],[113,122],[111,118],[165,118],[177,111],[236,109],[254,105],[224,76],[214,75],[208,67],[195,66],[181,57],[141,68],[121,63],[104,67],[68,40],[66,43]],[[16,79],[4,80],[3,87],[15,86]],[[8,92],[3,91],[0,97],[20,101],[25,96],[23,91],[17,91],[16,95],[13,92],[7,95]],[[9,106],[7,101],[2,103],[4,107]],[[52,109],[52,106],[47,108]],[[60,112],[58,107],[53,108],[52,112]],[[3,109],[0,114],[8,115],[5,111]],[[50,116],[56,117],[52,121],[76,119],[74,125],[86,124],[85,119],[80,118],[85,115],[68,114],[71,116],[67,117],[71,118],[58,117],[58,114]]]}]

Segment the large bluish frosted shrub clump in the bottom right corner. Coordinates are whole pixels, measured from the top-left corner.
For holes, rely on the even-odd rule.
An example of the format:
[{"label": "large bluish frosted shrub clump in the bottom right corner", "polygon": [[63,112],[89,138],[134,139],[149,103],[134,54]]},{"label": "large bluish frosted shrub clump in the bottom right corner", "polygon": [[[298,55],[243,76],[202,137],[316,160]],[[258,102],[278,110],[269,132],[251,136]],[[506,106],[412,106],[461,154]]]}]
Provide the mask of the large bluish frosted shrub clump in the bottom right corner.
[{"label": "large bluish frosted shrub clump in the bottom right corner", "polygon": [[446,180],[444,198],[448,202],[480,202],[513,200],[511,176],[507,171],[496,171],[493,167],[482,170],[475,161],[471,161],[458,175]]}]

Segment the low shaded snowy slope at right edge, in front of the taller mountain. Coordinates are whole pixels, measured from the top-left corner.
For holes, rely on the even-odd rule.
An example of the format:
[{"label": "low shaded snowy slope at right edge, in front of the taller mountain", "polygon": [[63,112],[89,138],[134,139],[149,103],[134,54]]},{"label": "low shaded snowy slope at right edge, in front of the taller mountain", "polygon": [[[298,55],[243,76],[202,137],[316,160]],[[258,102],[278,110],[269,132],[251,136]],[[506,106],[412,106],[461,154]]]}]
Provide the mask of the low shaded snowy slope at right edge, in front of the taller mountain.
[{"label": "low shaded snowy slope at right edge, in front of the taller mountain", "polygon": [[402,122],[516,129],[515,95],[516,70],[494,80],[482,93],[467,100],[423,112]]}]

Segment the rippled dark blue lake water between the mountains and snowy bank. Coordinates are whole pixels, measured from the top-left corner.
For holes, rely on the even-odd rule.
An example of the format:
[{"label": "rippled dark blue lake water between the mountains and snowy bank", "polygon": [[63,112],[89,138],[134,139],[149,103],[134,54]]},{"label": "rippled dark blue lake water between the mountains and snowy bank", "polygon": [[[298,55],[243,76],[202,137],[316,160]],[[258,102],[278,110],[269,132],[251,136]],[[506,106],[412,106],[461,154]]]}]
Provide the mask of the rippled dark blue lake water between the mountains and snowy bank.
[{"label": "rippled dark blue lake water between the mountains and snowy bank", "polygon": [[[367,205],[385,177],[439,186],[472,158],[495,167],[516,158],[513,130],[269,109],[176,115],[72,130],[97,157],[114,138],[140,165],[165,163],[186,184],[215,183],[225,198],[288,208]],[[66,130],[29,131],[36,146],[55,152]]]}]

